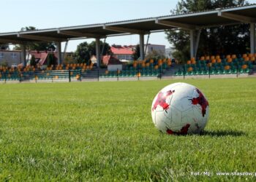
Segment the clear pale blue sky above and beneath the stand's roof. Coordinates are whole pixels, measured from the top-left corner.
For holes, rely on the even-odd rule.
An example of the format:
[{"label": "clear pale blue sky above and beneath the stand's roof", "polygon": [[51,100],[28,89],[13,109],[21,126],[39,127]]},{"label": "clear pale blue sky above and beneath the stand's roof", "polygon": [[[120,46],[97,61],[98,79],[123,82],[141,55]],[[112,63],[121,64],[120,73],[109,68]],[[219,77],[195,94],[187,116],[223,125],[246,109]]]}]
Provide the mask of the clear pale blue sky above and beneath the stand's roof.
[{"label": "clear pale blue sky above and beneath the stand's roof", "polygon": [[[178,0],[7,0],[1,2],[0,33],[20,31],[25,26],[59,28],[72,25],[108,23],[143,17],[170,15]],[[256,0],[250,0],[256,3]],[[145,36],[146,41],[147,36]],[[69,41],[67,51],[75,51],[80,42]],[[108,44],[138,44],[139,36],[116,36],[106,39]],[[148,43],[170,47],[165,33],[151,33]],[[64,48],[64,43],[62,44]]]}]

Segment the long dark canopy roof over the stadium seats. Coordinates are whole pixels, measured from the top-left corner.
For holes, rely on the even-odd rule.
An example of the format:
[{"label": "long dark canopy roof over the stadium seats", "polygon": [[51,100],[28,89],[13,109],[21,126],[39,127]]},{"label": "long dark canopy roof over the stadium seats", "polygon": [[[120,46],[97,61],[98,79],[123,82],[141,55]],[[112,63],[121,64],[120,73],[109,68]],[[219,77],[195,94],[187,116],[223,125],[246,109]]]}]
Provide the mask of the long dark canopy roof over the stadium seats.
[{"label": "long dark canopy roof over the stadium seats", "polygon": [[23,44],[29,41],[61,42],[69,39],[104,38],[106,36],[124,34],[147,34],[173,28],[196,30],[199,28],[238,23],[256,23],[256,4],[112,23],[0,33],[0,44]]}]

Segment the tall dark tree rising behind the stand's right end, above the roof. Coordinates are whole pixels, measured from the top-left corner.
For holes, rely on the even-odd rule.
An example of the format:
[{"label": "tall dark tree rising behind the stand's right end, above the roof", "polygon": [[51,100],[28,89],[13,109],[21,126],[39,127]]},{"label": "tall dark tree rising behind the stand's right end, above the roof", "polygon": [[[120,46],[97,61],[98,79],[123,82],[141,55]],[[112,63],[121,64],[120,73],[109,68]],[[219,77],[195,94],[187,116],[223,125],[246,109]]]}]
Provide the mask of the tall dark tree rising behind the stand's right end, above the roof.
[{"label": "tall dark tree rising behind the stand's right end, above the roof", "polygon": [[[181,0],[178,1],[173,14],[205,11],[220,7],[233,7],[247,4],[244,0]],[[167,39],[176,52],[173,57],[182,62],[189,59],[189,31],[182,29],[166,31]],[[222,25],[215,28],[202,28],[197,55],[242,54],[249,51],[249,25]]]}]

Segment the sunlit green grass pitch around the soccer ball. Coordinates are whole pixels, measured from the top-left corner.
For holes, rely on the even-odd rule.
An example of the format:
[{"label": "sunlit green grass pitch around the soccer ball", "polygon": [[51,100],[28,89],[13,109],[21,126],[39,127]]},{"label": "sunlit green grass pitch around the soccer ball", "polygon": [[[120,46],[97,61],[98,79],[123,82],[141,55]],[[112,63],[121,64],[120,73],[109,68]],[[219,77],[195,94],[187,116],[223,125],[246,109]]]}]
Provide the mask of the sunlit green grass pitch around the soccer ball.
[{"label": "sunlit green grass pitch around the soccer ball", "polygon": [[[202,135],[154,127],[173,82],[208,98]],[[216,174],[256,173],[255,92],[256,79],[0,84],[0,181],[255,181]]]}]

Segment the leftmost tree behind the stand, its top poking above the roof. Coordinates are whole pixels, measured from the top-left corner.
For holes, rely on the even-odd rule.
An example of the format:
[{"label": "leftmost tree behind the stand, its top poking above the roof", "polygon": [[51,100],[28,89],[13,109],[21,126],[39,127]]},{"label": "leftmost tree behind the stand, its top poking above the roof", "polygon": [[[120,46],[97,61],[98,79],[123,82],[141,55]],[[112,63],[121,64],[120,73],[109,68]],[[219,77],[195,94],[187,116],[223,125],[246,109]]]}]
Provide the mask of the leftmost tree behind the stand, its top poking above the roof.
[{"label": "leftmost tree behind the stand, its top poking above the roof", "polygon": [[[35,31],[37,30],[34,26],[23,27],[20,31]],[[14,50],[21,50],[23,45],[16,45]],[[31,42],[27,43],[26,47],[27,50],[38,50],[38,51],[54,51],[56,50],[56,45],[54,42]]]}]

